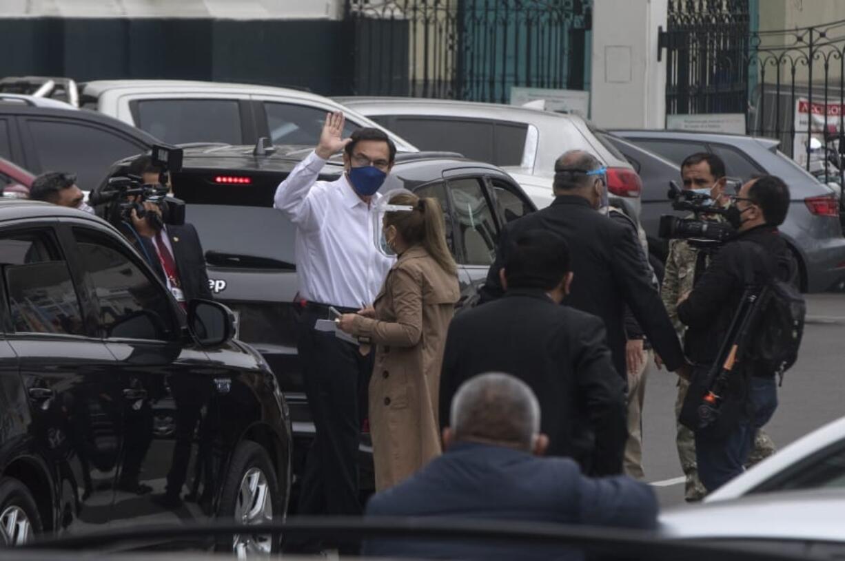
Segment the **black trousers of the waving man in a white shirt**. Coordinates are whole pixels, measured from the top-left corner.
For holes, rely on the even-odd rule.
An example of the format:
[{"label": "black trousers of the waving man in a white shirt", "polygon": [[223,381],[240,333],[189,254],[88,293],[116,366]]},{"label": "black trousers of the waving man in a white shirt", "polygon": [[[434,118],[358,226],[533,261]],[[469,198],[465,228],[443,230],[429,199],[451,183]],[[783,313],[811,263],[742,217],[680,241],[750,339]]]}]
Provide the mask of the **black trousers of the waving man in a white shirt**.
[{"label": "black trousers of the waving man in a white shirt", "polygon": [[314,330],[318,319],[329,318],[327,311],[313,308],[300,316],[298,351],[316,435],[305,463],[298,514],[360,515],[357,457],[373,353],[362,356],[356,345],[333,332]]}]

